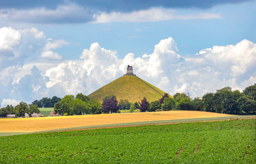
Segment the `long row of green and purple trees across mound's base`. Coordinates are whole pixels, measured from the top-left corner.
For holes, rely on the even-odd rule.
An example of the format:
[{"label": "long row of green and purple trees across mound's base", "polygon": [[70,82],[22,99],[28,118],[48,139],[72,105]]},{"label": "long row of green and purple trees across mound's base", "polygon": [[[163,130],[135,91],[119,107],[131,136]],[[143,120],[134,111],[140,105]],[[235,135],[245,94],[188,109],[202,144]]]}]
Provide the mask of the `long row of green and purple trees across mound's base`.
[{"label": "long row of green and purple trees across mound's base", "polygon": [[42,98],[40,101],[33,101],[32,104],[20,102],[17,106],[11,105],[0,108],[0,116],[7,114],[16,114],[24,116],[25,113],[39,113],[38,106],[52,106],[54,103],[54,112],[64,115],[83,115],[83,114],[108,114],[120,113],[120,110],[133,112],[139,109],[141,112],[152,111],[170,111],[170,110],[187,110],[187,111],[210,111],[223,114],[256,114],[256,84],[246,87],[243,92],[238,90],[232,91],[230,87],[224,87],[216,90],[215,93],[206,93],[204,96],[190,98],[185,93],[176,93],[170,96],[165,93],[162,98],[149,102],[144,97],[140,102],[131,103],[127,99],[121,99],[119,102],[114,95],[106,96],[102,103],[96,100],[90,100],[82,93],[66,95],[60,99]]}]

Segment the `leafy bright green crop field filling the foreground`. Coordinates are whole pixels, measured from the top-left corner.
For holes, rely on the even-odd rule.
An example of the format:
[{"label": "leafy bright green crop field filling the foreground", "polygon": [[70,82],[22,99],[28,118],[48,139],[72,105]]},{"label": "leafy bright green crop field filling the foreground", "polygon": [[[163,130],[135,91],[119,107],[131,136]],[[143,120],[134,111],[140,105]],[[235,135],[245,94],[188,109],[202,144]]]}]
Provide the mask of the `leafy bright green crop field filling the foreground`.
[{"label": "leafy bright green crop field filling the foreground", "polygon": [[256,163],[256,120],[0,137],[0,163]]}]

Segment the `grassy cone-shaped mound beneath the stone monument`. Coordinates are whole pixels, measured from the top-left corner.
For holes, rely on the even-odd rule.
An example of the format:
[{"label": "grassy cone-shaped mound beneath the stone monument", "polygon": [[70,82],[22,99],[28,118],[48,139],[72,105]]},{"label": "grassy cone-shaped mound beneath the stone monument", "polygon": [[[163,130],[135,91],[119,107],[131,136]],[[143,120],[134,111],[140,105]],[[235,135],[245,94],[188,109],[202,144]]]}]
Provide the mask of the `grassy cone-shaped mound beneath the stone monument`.
[{"label": "grassy cone-shaped mound beneath the stone monument", "polygon": [[108,95],[115,95],[118,101],[128,99],[130,102],[141,101],[143,97],[146,97],[151,102],[161,98],[161,94],[164,95],[164,93],[164,91],[136,76],[122,76],[91,93],[88,97],[100,102],[102,98]]}]

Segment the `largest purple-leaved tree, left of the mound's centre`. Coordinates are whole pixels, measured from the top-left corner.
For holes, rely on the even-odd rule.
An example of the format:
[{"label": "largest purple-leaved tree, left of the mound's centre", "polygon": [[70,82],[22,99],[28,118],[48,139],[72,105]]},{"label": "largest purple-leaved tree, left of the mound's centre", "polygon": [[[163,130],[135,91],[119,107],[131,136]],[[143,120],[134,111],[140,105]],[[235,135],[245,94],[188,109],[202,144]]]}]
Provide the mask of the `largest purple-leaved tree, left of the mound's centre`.
[{"label": "largest purple-leaved tree, left of the mound's centre", "polygon": [[117,105],[118,101],[116,99],[115,96],[112,97],[106,97],[103,99],[102,102],[102,112],[105,114],[109,114],[110,113],[118,113],[119,111],[119,106]]}]

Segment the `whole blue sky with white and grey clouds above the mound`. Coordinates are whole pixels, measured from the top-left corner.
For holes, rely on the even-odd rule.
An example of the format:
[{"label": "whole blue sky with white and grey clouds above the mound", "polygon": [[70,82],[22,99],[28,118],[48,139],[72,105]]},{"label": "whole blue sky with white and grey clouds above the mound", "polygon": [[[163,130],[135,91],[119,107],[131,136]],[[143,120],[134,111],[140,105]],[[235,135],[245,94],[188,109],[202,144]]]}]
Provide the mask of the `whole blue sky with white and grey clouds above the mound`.
[{"label": "whole blue sky with white and grey clouds above the mound", "polygon": [[255,0],[0,1],[0,104],[133,72],[174,95],[256,83]]}]

